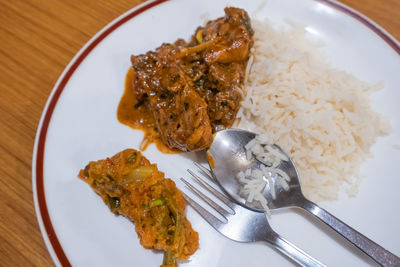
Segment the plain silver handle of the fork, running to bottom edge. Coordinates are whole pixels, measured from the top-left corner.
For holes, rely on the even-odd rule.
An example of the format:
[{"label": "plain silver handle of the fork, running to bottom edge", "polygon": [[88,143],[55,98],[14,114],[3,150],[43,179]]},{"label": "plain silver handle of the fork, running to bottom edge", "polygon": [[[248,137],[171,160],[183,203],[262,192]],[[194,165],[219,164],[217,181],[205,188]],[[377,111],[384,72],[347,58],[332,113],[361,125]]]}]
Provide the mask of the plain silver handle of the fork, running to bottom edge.
[{"label": "plain silver handle of the fork, running to bottom edge", "polygon": [[267,239],[267,241],[272,244],[279,252],[286,255],[300,266],[326,267],[325,264],[314,259],[303,250],[299,249],[275,232],[269,233]]}]

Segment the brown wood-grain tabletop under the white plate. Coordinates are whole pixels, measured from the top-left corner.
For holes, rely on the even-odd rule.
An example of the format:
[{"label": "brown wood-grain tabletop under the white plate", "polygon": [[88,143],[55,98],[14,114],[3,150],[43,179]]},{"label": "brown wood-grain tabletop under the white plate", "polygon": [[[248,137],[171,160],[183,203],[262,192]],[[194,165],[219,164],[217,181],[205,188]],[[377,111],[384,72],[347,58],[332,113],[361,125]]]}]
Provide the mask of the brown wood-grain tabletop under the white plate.
[{"label": "brown wood-grain tabletop under the white plate", "polygon": [[[74,54],[141,0],[0,0],[0,265],[52,266],[31,161],[47,97]],[[400,39],[399,0],[342,0]]]}]

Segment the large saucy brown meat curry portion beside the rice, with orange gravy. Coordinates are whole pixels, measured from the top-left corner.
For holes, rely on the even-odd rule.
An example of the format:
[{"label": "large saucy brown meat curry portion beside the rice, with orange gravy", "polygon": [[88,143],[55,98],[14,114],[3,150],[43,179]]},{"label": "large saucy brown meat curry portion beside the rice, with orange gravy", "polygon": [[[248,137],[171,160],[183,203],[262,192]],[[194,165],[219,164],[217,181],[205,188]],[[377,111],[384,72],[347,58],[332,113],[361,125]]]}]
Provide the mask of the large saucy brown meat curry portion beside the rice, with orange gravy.
[{"label": "large saucy brown meat curry portion beside the rice, with orange gravy", "polygon": [[246,11],[229,7],[224,17],[198,27],[189,42],[178,39],[131,56],[118,119],[145,131],[141,149],[156,142],[163,151],[202,150],[214,132],[232,126],[252,36]]}]

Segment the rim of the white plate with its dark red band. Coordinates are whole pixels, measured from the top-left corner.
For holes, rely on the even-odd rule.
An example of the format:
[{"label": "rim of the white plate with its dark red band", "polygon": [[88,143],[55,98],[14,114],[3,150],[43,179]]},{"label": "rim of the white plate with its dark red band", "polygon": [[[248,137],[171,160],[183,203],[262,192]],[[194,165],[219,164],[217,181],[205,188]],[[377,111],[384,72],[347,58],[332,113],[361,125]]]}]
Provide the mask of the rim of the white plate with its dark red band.
[{"label": "rim of the white plate with its dark red band", "polygon": [[[47,208],[46,195],[44,190],[44,152],[46,146],[47,130],[51,122],[51,118],[58,100],[67,85],[69,79],[73,76],[75,70],[91,53],[91,51],[101,43],[110,33],[122,26],[125,22],[135,18],[137,15],[148,11],[150,8],[158,6],[164,2],[173,0],[150,0],[146,1],[113,19],[109,24],[97,32],[86,44],[76,53],[69,64],[65,67],[60,77],[57,79],[50,95],[43,108],[40,117],[36,137],[33,147],[32,156],[32,192],[38,220],[39,228],[49,251],[52,260],[56,265],[72,266],[67,255],[65,254],[57,234],[53,228],[50,214]],[[310,0],[325,4],[338,12],[344,13],[351,18],[357,20],[365,27],[369,28],[373,33],[378,35],[386,44],[388,44],[400,56],[400,42],[394,38],[380,25],[369,19],[367,16],[356,11],[355,9],[335,0]]]}]

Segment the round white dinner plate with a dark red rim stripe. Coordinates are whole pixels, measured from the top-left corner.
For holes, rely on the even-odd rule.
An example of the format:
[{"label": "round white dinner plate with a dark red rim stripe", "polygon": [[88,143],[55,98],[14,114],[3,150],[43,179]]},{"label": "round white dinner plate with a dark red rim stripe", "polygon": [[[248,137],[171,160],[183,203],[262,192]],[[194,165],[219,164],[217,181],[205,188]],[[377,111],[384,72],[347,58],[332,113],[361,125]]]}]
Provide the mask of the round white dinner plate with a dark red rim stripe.
[{"label": "round white dinner plate with a dark red rim stripe", "polygon": [[[373,105],[391,119],[393,132],[373,146],[362,166],[367,177],[355,198],[321,203],[339,218],[396,254],[400,254],[400,48],[378,26],[351,9],[316,0],[177,0],[147,2],[114,20],[86,44],[59,78],[39,124],[33,155],[33,191],[40,228],[54,261],[68,266],[159,266],[162,254],[139,244],[134,226],[116,217],[92,189],[77,178],[90,160],[138,148],[142,132],[116,119],[130,66],[129,56],[162,42],[189,38],[225,6],[245,8],[256,18],[282,25],[288,18],[307,26],[307,36],[326,44],[338,67],[367,82],[385,82]],[[196,155],[166,155],[150,146],[144,155],[175,181],[186,176]],[[178,187],[185,190],[178,181]],[[200,234],[200,249],[181,266],[290,266],[265,244],[226,239],[190,207],[189,220]],[[274,214],[276,231],[322,262],[357,266],[371,261],[336,233],[303,212]]]}]

